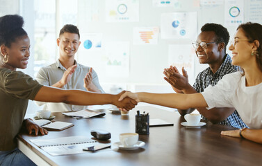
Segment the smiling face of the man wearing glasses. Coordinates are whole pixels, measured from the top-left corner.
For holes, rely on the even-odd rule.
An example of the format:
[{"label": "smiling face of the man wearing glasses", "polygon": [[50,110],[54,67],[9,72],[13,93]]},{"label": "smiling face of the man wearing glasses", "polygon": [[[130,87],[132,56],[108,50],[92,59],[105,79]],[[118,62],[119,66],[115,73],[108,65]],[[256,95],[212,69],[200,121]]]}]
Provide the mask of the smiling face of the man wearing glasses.
[{"label": "smiling face of the man wearing glasses", "polygon": [[[197,37],[198,43],[200,42],[217,42],[215,33],[213,31],[204,31],[200,33]],[[220,59],[222,59],[222,54],[220,53],[220,50],[218,49],[218,44],[207,44],[207,48],[204,49],[201,46],[198,46],[195,49],[195,53],[199,59],[200,64],[214,64],[218,62]]]}]

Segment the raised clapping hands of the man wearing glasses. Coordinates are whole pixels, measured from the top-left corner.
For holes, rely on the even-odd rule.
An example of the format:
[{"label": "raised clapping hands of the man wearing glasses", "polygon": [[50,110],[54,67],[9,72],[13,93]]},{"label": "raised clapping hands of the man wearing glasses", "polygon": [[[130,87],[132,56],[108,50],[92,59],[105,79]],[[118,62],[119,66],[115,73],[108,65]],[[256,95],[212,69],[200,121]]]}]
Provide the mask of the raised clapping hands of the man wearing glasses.
[{"label": "raised clapping hands of the man wearing glasses", "polygon": [[182,68],[183,75],[181,75],[176,66],[170,66],[170,68],[164,69],[164,79],[171,84],[174,91],[177,93],[183,93],[183,89],[186,89],[190,84],[188,83],[188,73],[185,68]]}]

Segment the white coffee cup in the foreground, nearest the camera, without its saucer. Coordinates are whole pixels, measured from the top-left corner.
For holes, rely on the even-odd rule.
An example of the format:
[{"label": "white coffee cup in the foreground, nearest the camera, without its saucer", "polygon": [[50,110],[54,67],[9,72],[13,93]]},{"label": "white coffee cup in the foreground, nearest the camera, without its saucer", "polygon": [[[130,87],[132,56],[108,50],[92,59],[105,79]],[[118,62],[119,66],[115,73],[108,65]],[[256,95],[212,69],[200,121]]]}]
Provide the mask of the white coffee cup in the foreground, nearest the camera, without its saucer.
[{"label": "white coffee cup in the foreground, nearest the camera, without its saucer", "polygon": [[133,147],[138,142],[138,133],[120,133],[119,138],[124,147]]}]

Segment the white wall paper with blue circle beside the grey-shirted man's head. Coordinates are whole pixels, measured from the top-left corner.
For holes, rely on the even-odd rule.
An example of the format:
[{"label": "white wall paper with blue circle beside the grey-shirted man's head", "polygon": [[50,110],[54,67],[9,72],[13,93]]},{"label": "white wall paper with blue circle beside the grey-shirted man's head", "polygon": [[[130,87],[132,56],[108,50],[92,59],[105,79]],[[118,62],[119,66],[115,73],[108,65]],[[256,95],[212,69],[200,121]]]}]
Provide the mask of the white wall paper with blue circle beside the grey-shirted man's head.
[{"label": "white wall paper with blue circle beside the grey-shirted man's head", "polygon": [[102,47],[101,33],[85,33],[81,35],[81,49],[84,50],[99,50]]}]

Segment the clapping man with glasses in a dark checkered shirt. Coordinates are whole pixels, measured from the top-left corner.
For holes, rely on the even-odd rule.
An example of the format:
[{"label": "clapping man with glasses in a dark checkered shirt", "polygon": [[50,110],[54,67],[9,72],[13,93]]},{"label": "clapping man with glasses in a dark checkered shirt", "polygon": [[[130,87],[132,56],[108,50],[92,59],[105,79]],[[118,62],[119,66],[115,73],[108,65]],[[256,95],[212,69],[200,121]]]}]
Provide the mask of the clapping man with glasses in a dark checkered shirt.
[{"label": "clapping man with glasses in a dark checkered shirt", "polygon": [[[201,31],[197,41],[192,44],[199,63],[208,64],[209,67],[197,75],[195,84],[191,86],[188,82],[188,74],[184,68],[182,68],[182,74],[180,74],[175,66],[170,66],[174,73],[167,75],[164,71],[165,80],[171,84],[177,93],[203,92],[208,85],[214,86],[217,84],[224,75],[239,71],[238,66],[231,64],[231,57],[226,53],[227,44],[229,43],[227,28],[220,24],[205,24],[202,26]],[[225,109],[228,109],[228,111],[224,111]],[[184,115],[191,113],[193,110],[179,110],[179,113]],[[197,111],[202,114],[202,119],[213,123],[225,124],[238,129],[247,127],[238,115],[238,112],[234,111],[234,108],[213,108],[211,110],[197,108]],[[234,113],[230,115],[232,111]]]}]

